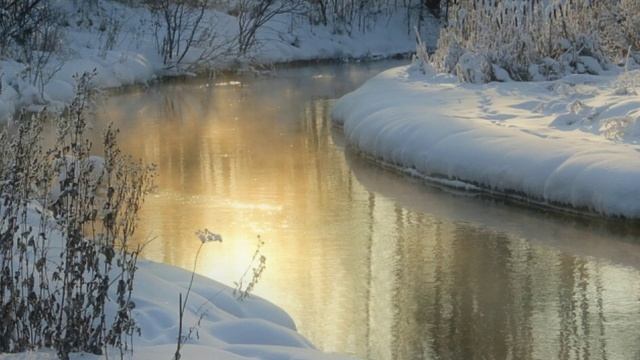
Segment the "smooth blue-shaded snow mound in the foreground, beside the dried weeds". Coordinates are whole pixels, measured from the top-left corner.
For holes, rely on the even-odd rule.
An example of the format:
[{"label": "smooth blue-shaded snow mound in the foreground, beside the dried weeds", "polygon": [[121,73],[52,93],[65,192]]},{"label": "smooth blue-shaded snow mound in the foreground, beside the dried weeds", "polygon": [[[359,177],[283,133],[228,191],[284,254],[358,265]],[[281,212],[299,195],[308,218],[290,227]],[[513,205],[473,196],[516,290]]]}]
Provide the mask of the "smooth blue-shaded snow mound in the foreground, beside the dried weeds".
[{"label": "smooth blue-shaded snow mound in the foreground, beside the dried weeds", "polygon": [[[92,159],[92,161],[96,161]],[[0,211],[2,209],[0,208]],[[28,222],[37,228],[42,208],[32,203]],[[62,235],[55,224],[49,231],[49,248],[62,247]],[[200,241],[194,235],[193,241]],[[210,244],[213,245],[213,244]],[[50,251],[54,258],[57,251]],[[52,259],[55,261],[54,259]],[[179,327],[179,294],[186,294],[191,273],[169,265],[138,260],[132,300],[133,316],[141,335],[134,336],[133,359],[172,358]],[[112,274],[115,278],[117,273]],[[113,289],[112,289],[113,290]],[[183,297],[184,298],[184,297]],[[117,305],[108,303],[107,318],[113,318]],[[195,275],[184,313],[185,331],[196,333],[186,340],[183,359],[264,359],[318,360],[347,359],[347,356],[317,350],[297,333],[291,317],[282,309],[257,296],[240,301],[233,289],[203,276]],[[119,356],[111,349],[110,356]],[[44,360],[57,358],[43,349],[19,354],[0,354],[0,359]],[[73,354],[72,359],[102,359],[104,356]]]}]

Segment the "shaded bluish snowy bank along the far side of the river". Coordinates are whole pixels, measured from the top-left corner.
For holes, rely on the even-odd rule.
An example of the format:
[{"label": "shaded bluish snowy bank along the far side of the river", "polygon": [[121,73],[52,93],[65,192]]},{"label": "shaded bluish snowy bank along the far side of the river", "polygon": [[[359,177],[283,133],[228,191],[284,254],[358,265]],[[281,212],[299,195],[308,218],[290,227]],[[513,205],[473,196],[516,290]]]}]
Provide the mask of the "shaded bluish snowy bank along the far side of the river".
[{"label": "shaded bluish snowy bank along the far side of the river", "polygon": [[[58,0],[57,8],[65,14],[61,51],[43,69],[45,84],[36,85],[25,75],[27,65],[12,59],[0,59],[0,120],[9,118],[23,107],[57,110],[73,97],[73,76],[96,72],[98,88],[114,88],[144,84],[163,76],[185,74],[197,68],[222,70],[252,65],[268,65],[300,60],[387,57],[414,50],[414,35],[407,31],[403,13],[380,19],[367,32],[351,35],[336,33],[329,26],[292,23],[290,15],[276,16],[258,30],[258,46],[246,58],[220,54],[200,63],[198,54],[207,49],[194,47],[181,64],[181,69],[167,69],[158,53],[157,28],[151,12],[144,7],[130,7],[114,0],[99,0],[95,10],[80,14],[77,2]],[[237,36],[237,19],[209,9],[205,23],[215,24],[212,46],[232,43]],[[114,22],[116,25],[110,25]],[[437,21],[425,22],[425,36],[435,46]],[[222,50],[221,50],[222,52]]]}]

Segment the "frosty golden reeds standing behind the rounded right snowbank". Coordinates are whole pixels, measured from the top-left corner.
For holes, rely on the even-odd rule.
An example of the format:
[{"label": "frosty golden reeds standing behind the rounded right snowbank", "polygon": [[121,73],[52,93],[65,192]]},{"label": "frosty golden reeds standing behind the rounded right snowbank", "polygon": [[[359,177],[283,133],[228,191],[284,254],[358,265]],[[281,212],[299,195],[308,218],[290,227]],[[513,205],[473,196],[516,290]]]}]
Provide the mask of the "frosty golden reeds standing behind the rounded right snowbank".
[{"label": "frosty golden reeds standing behind the rounded right snowbank", "polygon": [[598,73],[609,64],[600,41],[603,6],[591,0],[459,1],[450,5],[433,65],[473,82]]}]

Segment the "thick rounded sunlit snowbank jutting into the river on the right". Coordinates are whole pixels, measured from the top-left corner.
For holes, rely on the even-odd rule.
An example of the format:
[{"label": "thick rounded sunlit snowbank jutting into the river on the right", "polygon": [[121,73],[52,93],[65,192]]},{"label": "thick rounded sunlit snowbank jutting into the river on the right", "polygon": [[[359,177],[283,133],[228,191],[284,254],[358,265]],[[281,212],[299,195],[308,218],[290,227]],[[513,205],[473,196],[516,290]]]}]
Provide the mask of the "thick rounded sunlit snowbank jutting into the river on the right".
[{"label": "thick rounded sunlit snowbank jutting into the river on the right", "polygon": [[639,109],[615,75],[474,85],[402,67],[333,117],[357,150],[432,181],[638,218]]}]

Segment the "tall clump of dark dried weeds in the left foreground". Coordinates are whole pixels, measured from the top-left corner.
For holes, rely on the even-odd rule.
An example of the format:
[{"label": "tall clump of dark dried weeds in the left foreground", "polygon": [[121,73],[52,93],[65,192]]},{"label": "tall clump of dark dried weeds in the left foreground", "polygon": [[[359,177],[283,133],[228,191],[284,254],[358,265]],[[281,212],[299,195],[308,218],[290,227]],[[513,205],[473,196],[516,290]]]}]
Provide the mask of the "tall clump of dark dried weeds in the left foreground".
[{"label": "tall clump of dark dried weeds in the left foreground", "polygon": [[127,249],[153,171],[124,157],[109,127],[104,157],[91,156],[86,116],[90,74],[54,120],[42,146],[43,113],[22,113],[0,142],[0,351],[55,348],[123,354],[138,330],[131,301],[140,248]]}]

